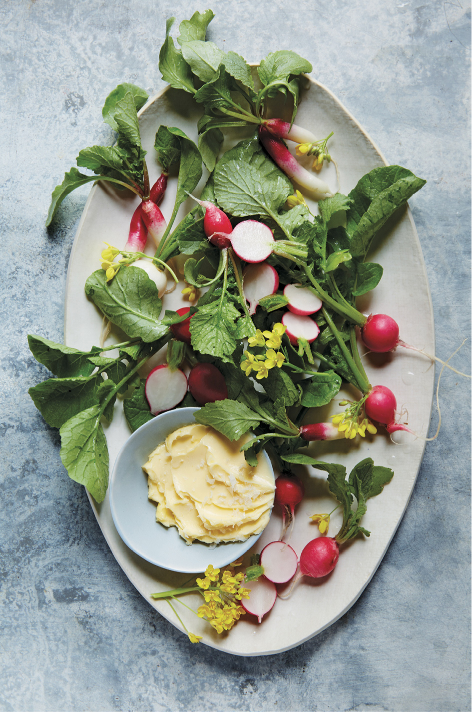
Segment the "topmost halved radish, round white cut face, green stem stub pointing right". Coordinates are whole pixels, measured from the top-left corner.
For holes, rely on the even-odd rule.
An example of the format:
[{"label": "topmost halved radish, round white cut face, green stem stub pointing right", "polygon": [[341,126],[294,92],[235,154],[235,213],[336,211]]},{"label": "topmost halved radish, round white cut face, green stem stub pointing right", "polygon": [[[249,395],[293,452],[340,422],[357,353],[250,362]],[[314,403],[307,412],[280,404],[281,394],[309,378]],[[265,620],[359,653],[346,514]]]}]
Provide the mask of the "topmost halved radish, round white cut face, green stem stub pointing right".
[{"label": "topmost halved radish, round white cut face, green stem stub pointing right", "polygon": [[306,245],[292,240],[274,240],[272,230],[259,220],[243,220],[230,234],[238,257],[252,264],[264,262],[272,253],[288,259],[306,258]]}]

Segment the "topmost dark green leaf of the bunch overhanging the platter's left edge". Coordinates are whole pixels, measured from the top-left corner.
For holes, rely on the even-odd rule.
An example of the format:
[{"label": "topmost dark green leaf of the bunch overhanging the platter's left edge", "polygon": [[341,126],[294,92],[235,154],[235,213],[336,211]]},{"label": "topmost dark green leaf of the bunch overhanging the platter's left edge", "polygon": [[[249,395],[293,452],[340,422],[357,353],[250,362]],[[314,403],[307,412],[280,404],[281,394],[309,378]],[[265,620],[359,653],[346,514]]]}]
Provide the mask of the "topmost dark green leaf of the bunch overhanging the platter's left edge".
[{"label": "topmost dark green leaf of the bunch overhanging the platter's left edge", "polygon": [[97,346],[92,346],[90,351],[79,351],[31,334],[28,335],[28,345],[36,361],[60,378],[90,376],[95,366],[89,356],[100,353]]}]

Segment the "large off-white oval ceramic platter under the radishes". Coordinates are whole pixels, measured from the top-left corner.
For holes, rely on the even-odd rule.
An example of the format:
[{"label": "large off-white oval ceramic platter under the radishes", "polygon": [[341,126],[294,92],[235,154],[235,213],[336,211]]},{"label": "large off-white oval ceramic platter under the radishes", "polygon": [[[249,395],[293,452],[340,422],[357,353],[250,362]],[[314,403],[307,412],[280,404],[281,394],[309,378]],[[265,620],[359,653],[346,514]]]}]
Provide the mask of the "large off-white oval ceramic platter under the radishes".
[{"label": "large off-white oval ceramic platter under the radishes", "polygon": [[[140,112],[141,138],[148,151],[147,161],[151,183],[161,169],[154,158],[154,136],[159,125],[176,126],[197,140],[196,125],[198,108],[183,92],[167,88],[144,106]],[[340,186],[347,194],[358,179],[370,169],[385,164],[381,152],[375,147],[362,127],[340,104],[333,94],[322,85],[306,80],[296,122],[320,138],[333,131],[329,150],[338,162]],[[237,140],[250,135],[240,133],[225,139],[223,150]],[[333,164],[323,168],[323,177],[331,189],[338,188]],[[201,187],[205,182],[203,176]],[[197,189],[198,190],[198,189]],[[169,181],[168,191],[161,204],[166,218],[173,209],[176,179]],[[100,267],[100,253],[108,242],[122,246],[127,241],[129,220],[137,199],[129,194],[117,193],[108,185],[97,184],[90,193],[77,230],[70,255],[65,300],[65,343],[80,349],[89,349],[100,342],[102,315],[95,305],[87,300],[85,280]],[[193,208],[189,199],[181,206],[178,221]],[[316,205],[315,205],[316,209]],[[177,224],[177,222],[176,222]],[[400,335],[407,343],[434,353],[434,322],[427,275],[424,267],[417,231],[409,213],[404,208],[398,211],[382,231],[382,239],[376,241],[370,260],[384,268],[380,285],[365,298],[358,300],[358,308],[364,313],[390,314],[400,325]],[[181,287],[182,288],[182,287]],[[184,304],[181,288],[164,298],[164,307],[176,309]],[[124,340],[124,335],[112,332],[107,344]],[[431,402],[434,391],[434,367],[421,355],[399,349],[395,355],[366,355],[365,367],[374,384],[384,384],[396,394],[398,407],[408,411],[409,426],[421,436],[427,435]],[[355,397],[354,393],[346,393]],[[336,412],[336,402],[328,407],[323,417]],[[110,471],[130,430],[124,419],[122,404],[115,406],[114,419],[106,428],[110,455]],[[380,496],[370,499],[363,526],[370,530],[370,538],[356,539],[343,547],[338,566],[323,580],[302,580],[291,597],[277,600],[272,611],[257,624],[249,615],[243,616],[227,634],[216,634],[210,625],[179,606],[179,614],[189,630],[203,636],[203,643],[231,654],[257,656],[289,650],[310,639],[335,622],[358,599],[380,564],[395,530],[399,525],[424,451],[424,440],[415,439],[407,433],[396,434],[397,444],[385,434],[366,439],[360,443],[333,441],[311,444],[309,454],[317,459],[339,462],[348,472],[361,459],[372,457],[375,464],[391,467],[395,477]],[[328,493],[326,475],[305,466],[296,466],[294,471],[304,480],[306,496],[296,511],[296,523],[291,545],[297,554],[304,545],[318,535],[318,530],[309,515],[329,512],[336,506]],[[132,552],[124,544],[114,527],[109,498],[97,505],[90,504],[95,512],[104,538],[114,557],[137,590],[156,608],[163,617],[181,629],[181,624],[165,601],[154,601],[151,594],[181,585],[188,575],[156,567]],[[254,550],[260,551],[265,543],[279,538],[281,517],[274,508],[267,529]],[[336,534],[340,514],[331,518],[330,533]],[[158,526],[156,524],[156,526]],[[198,595],[186,597],[186,603],[196,609],[202,602]]]}]

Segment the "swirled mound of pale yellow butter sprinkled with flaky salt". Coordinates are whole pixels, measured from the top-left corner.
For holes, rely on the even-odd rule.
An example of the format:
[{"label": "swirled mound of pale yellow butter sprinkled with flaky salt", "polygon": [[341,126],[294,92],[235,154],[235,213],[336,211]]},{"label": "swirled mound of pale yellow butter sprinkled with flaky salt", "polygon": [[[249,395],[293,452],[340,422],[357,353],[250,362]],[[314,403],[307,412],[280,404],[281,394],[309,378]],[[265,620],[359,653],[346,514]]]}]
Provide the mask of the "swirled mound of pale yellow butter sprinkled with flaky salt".
[{"label": "swirled mound of pale yellow butter sprinkled with flaky salt", "polygon": [[267,459],[247,464],[240,447],[209,426],[173,431],[143,466],[156,520],[176,526],[188,544],[242,541],[266,527],[274,503],[274,473]]}]

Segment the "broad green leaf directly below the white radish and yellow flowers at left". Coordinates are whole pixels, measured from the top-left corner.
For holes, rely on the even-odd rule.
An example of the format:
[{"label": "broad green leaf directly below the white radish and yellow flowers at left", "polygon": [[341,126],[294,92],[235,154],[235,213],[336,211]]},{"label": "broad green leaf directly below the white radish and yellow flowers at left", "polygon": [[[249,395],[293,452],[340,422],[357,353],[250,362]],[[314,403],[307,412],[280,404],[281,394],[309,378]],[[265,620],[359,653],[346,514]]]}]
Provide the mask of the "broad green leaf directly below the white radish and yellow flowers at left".
[{"label": "broad green leaf directly below the white radish and yellow flowers at left", "polygon": [[123,267],[110,283],[103,270],[87,279],[85,293],[109,320],[130,337],[159,339],[168,328],[159,321],[161,300],[155,283],[139,267]]}]

